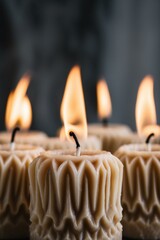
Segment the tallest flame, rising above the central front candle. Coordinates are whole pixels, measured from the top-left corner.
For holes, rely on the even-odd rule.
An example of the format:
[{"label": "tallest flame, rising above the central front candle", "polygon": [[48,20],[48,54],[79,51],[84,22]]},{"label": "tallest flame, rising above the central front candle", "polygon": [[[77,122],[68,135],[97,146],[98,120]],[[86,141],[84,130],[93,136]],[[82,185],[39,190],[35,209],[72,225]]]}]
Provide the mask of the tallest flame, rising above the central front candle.
[{"label": "tallest flame, rising above the central front candle", "polygon": [[73,131],[78,138],[87,137],[85,102],[78,66],[71,69],[67,79],[61,104],[61,119],[64,123],[67,139],[71,139],[70,131]]}]

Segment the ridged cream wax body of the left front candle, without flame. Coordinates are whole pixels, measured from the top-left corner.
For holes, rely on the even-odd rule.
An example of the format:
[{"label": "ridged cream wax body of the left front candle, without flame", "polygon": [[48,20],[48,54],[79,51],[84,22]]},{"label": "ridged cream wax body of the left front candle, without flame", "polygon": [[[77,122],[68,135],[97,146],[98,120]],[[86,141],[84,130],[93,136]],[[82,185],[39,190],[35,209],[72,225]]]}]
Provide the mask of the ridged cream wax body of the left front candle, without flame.
[{"label": "ridged cream wax body of the left front candle, without flame", "polygon": [[28,166],[43,151],[27,145],[0,145],[0,239],[29,236]]}]

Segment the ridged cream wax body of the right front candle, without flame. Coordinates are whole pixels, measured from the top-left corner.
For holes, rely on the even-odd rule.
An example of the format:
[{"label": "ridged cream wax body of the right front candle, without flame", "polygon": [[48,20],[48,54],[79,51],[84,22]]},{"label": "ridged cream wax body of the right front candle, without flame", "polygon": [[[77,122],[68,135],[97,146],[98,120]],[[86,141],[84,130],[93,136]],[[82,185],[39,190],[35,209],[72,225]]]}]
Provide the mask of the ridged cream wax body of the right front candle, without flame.
[{"label": "ridged cream wax body of the right front candle, without flame", "polygon": [[160,146],[126,145],[115,155],[124,165],[123,234],[160,239]]}]

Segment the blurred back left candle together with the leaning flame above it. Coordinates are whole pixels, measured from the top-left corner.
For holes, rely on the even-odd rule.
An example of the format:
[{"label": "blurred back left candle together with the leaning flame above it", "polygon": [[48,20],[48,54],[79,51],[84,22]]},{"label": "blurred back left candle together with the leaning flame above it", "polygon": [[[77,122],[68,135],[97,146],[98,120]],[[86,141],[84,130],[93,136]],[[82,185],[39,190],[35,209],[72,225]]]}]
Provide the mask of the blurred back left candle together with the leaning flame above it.
[{"label": "blurred back left candle together with the leaning flame above it", "polygon": [[0,132],[0,143],[9,143],[11,130],[16,126],[23,130],[16,136],[17,143],[35,144],[47,138],[43,132],[26,131],[32,122],[32,107],[26,95],[29,83],[30,76],[25,74],[8,97],[5,115],[8,132]]}]

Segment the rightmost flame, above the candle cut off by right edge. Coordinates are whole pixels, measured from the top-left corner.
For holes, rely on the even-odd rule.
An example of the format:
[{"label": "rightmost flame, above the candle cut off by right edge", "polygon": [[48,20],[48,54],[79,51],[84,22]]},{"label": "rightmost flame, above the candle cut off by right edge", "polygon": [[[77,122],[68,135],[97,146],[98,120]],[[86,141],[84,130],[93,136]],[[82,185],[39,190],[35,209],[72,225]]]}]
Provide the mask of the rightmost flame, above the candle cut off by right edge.
[{"label": "rightmost flame, above the candle cut off by right edge", "polygon": [[[157,116],[154,102],[153,86],[154,80],[151,76],[146,76],[140,83],[135,115],[136,126],[139,134],[149,135],[157,133]],[[158,134],[158,133],[157,133]]]}]

